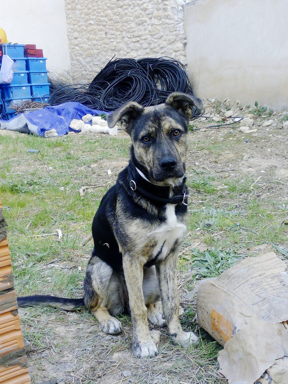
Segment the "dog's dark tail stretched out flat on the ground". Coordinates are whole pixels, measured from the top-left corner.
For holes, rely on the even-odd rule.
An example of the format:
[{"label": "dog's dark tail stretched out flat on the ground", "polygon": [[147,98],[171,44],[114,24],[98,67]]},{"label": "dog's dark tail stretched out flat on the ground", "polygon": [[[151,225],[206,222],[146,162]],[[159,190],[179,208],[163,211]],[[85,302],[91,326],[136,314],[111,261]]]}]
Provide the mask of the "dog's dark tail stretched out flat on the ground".
[{"label": "dog's dark tail stretched out flat on the ground", "polygon": [[66,311],[74,311],[86,308],[84,299],[66,299],[62,297],[45,295],[18,297],[17,302],[18,306],[20,307],[46,305]]}]

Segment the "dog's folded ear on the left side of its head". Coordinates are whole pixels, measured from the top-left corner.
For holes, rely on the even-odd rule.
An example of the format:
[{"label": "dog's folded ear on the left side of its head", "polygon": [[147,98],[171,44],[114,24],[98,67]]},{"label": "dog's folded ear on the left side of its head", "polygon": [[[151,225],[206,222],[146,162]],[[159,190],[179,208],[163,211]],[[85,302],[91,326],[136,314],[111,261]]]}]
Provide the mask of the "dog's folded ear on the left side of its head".
[{"label": "dog's folded ear on the left side of its head", "polygon": [[109,113],[107,116],[108,127],[113,128],[121,120],[121,128],[130,134],[133,121],[141,115],[143,110],[142,105],[135,101],[128,101],[122,107]]}]

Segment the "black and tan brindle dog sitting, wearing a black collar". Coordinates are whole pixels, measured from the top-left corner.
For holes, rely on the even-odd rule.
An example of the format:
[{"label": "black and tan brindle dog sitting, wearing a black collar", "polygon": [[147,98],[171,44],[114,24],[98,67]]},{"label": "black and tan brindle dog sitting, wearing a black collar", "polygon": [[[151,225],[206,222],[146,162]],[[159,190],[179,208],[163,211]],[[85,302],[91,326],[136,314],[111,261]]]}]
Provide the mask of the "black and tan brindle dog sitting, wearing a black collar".
[{"label": "black and tan brindle dog sitting, wearing a black collar", "polygon": [[[167,324],[171,338],[184,348],[197,343],[197,335],[181,328],[177,290],[178,255],[190,199],[185,157],[193,107],[202,109],[202,101],[175,92],[164,104],[144,108],[131,101],[108,115],[109,128],[121,121],[130,135],[131,158],[94,216],[94,249],[84,297],[26,296],[18,298],[19,306],[85,307],[103,332],[112,335],[122,331],[114,316],[129,313],[132,353],[137,358],[158,353],[147,319],[158,326]],[[156,309],[160,298],[163,314]]]}]

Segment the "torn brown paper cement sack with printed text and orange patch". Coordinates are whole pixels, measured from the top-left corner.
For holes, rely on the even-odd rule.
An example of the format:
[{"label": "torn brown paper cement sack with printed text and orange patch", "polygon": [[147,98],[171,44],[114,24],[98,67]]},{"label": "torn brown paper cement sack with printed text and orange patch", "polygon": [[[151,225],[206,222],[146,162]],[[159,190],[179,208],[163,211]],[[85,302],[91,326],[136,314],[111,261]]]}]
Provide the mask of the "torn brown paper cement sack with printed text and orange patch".
[{"label": "torn brown paper cement sack with printed text and orange patch", "polygon": [[224,346],[218,362],[229,384],[288,384],[285,269],[268,252],[199,285],[198,324]]}]

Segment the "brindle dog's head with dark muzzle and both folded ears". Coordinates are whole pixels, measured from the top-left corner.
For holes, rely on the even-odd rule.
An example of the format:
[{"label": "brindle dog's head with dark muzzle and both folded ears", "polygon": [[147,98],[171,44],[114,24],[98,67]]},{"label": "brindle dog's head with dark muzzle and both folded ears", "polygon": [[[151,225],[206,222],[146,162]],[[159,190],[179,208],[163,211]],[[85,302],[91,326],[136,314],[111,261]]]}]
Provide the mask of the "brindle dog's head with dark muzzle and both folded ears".
[{"label": "brindle dog's head with dark muzzle and both folded ears", "polygon": [[109,128],[121,120],[132,139],[132,159],[150,181],[177,185],[185,172],[188,123],[192,107],[202,101],[185,93],[171,93],[164,104],[144,108],[134,101],[125,103],[107,117]]}]

